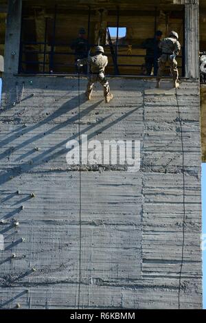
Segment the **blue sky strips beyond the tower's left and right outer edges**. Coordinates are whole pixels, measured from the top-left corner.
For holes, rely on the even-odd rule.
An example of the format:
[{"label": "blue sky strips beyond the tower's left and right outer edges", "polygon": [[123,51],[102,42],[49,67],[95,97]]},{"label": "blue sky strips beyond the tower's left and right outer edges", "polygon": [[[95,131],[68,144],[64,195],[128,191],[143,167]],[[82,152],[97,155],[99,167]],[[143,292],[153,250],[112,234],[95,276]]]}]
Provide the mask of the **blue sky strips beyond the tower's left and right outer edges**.
[{"label": "blue sky strips beyond the tower's left and right outer edges", "polygon": [[[0,78],[0,100],[1,100],[1,78]],[[202,201],[203,201],[203,234],[206,234],[206,164],[202,164]],[[204,274],[205,273],[205,274]],[[206,250],[203,251],[203,307],[206,309]]]}]

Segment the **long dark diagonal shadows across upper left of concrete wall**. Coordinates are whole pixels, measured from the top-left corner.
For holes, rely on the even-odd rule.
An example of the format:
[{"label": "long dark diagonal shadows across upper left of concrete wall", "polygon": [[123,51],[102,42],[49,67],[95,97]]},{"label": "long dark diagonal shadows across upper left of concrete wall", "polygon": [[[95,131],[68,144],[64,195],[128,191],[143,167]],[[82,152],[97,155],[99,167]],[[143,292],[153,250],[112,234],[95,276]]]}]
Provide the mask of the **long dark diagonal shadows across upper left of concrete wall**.
[{"label": "long dark diagonal shadows across upper left of concrete wall", "polygon": [[[85,100],[85,96],[84,96],[84,94],[82,94],[80,96],[80,101],[83,103],[84,100]],[[74,115],[71,118],[65,120],[64,122],[61,122],[60,124],[56,124],[52,129],[49,129],[49,130],[45,131],[44,133],[43,132],[37,133],[32,138],[21,142],[21,144],[19,144],[18,146],[16,146],[15,148],[12,149],[12,153],[14,153],[14,151],[21,151],[21,149],[23,147],[27,146],[27,144],[30,144],[31,142],[35,142],[36,140],[39,140],[42,137],[50,135],[51,133],[55,133],[56,131],[58,131],[62,128],[65,128],[67,125],[69,125],[71,123],[78,122],[79,118],[82,118],[85,115],[88,115],[88,113],[90,113],[91,111],[95,110],[95,108],[98,107],[101,102],[102,102],[102,100],[100,100],[99,102],[95,102],[95,104],[92,104],[91,106],[87,107],[87,109],[84,109],[84,111],[81,111],[80,115],[79,114]],[[32,126],[29,126],[27,128],[24,128],[24,126],[21,126],[19,131],[17,131],[17,133],[15,132],[14,134],[10,135],[9,137],[6,137],[3,140],[1,140],[0,145],[3,147],[4,145],[11,144],[11,142],[16,140],[16,137],[18,137],[18,135],[25,135],[25,133],[30,133],[30,132],[34,131],[35,129],[38,129],[39,126],[42,126],[43,124],[47,124],[47,122],[52,122],[56,118],[58,118],[60,115],[63,115],[64,113],[68,112],[69,110],[76,109],[77,107],[78,107],[78,101],[76,100],[76,97],[72,98],[71,100],[69,100],[65,104],[62,104],[62,106],[58,110],[56,110],[54,113],[52,113],[52,115],[49,115],[47,118],[45,118],[45,120],[42,120],[38,124],[33,124]],[[138,109],[141,109],[141,107],[142,107],[141,105],[139,107],[135,107],[135,109],[128,111],[124,115],[121,115],[119,118],[104,124],[104,122],[108,118],[111,118],[111,115],[113,115],[113,113],[110,113],[105,118],[102,118],[101,120],[99,120],[98,123],[95,124],[95,126],[97,126],[97,125],[100,126],[100,129],[98,129],[99,132],[106,131],[106,129],[109,129],[114,124],[121,122],[122,120],[127,118],[128,115],[134,113]],[[101,126],[101,124],[102,124],[102,126]],[[28,171],[32,170],[32,168],[34,168],[35,166],[45,164],[48,161],[55,159],[56,157],[58,157],[60,155],[66,154],[67,153],[67,148],[66,148],[67,142],[70,140],[76,140],[78,135],[82,135],[84,133],[87,133],[88,131],[91,131],[91,129],[93,129],[93,127],[94,127],[93,124],[89,125],[86,127],[86,129],[82,129],[82,131],[80,131],[80,134],[74,134],[71,137],[69,137],[69,139],[66,138],[64,141],[59,142],[55,146],[52,146],[47,151],[43,151],[40,155],[38,155],[37,157],[34,157],[32,159],[32,164],[30,164],[29,162],[26,162],[24,164],[21,164],[18,167],[11,168],[10,170],[5,170],[5,172],[2,173],[0,176],[1,185],[3,183],[5,183],[6,181],[9,181],[10,179],[12,179],[14,177],[17,177],[17,176],[23,174],[23,172],[28,172]],[[95,137],[95,135],[96,135],[96,131],[93,131],[89,135],[88,139],[91,140],[91,138]],[[65,148],[62,148],[62,146],[65,146]],[[59,149],[59,150],[56,151],[56,149]],[[54,153],[54,151],[56,151],[56,152]],[[5,158],[8,155],[8,153],[10,153],[10,151],[8,151],[8,149],[3,151],[0,154],[0,159]],[[28,156],[32,155],[33,153],[34,153],[34,149],[32,149],[31,151],[28,151],[25,155],[21,155],[20,157],[18,157],[16,159],[16,161],[17,160],[19,161],[25,157],[28,157]],[[16,210],[16,211],[18,212],[18,210]],[[5,217],[8,217],[8,216],[10,217],[10,214],[5,215]]]}]

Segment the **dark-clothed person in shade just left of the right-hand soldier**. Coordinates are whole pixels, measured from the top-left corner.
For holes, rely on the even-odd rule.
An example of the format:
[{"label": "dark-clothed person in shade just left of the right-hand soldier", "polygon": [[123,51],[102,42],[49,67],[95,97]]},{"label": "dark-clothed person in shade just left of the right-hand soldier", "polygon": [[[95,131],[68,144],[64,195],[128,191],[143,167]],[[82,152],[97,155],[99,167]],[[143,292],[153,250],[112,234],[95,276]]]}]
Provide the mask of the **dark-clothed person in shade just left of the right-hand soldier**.
[{"label": "dark-clothed person in shade just left of the right-hand soldier", "polygon": [[148,38],[142,43],[142,48],[146,49],[146,75],[151,75],[152,67],[154,67],[154,75],[157,76],[158,60],[161,56],[161,49],[159,43],[161,42],[162,32],[157,30],[154,38]]}]

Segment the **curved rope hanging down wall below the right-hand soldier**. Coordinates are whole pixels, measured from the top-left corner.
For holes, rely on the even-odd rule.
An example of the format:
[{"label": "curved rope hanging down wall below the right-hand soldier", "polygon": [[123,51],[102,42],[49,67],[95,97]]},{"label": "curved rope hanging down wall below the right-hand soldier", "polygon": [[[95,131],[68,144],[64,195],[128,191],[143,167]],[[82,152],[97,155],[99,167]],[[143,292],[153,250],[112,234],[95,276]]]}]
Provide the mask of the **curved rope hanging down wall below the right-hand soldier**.
[{"label": "curved rope hanging down wall below the right-hand soldier", "polygon": [[182,244],[182,252],[181,252],[181,269],[179,273],[179,293],[178,293],[178,308],[180,309],[181,303],[180,303],[180,294],[181,294],[181,278],[182,278],[182,272],[183,272],[183,261],[184,261],[184,248],[185,248],[185,151],[184,151],[184,145],[183,145],[183,126],[181,121],[181,112],[179,108],[179,101],[177,96],[177,90],[175,89],[176,94],[176,103],[178,108],[178,115],[179,115],[179,124],[180,124],[180,130],[181,130],[181,146],[182,146],[182,156],[183,156],[183,244]]}]

